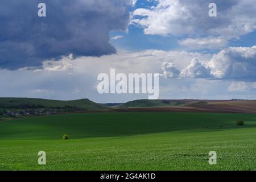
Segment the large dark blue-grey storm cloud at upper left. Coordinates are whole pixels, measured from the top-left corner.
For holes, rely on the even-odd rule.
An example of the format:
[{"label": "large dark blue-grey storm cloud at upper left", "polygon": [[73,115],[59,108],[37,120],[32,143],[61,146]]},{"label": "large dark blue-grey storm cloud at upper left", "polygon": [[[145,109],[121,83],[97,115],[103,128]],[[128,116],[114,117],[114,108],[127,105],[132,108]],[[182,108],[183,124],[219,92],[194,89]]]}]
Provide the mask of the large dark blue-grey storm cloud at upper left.
[{"label": "large dark blue-grey storm cloud at upper left", "polygon": [[[38,16],[46,3],[47,17]],[[109,32],[126,30],[128,0],[2,0],[0,68],[42,65],[46,59],[115,53]]]}]

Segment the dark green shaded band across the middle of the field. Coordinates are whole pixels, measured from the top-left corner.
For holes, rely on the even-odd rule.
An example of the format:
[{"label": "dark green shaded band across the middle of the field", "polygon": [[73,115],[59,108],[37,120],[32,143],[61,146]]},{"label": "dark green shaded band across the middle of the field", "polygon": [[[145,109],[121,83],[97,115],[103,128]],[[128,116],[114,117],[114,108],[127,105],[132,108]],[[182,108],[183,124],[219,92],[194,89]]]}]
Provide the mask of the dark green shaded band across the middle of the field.
[{"label": "dark green shaded band across the middle of the field", "polygon": [[[236,126],[239,120],[245,126]],[[256,114],[85,113],[24,118],[0,123],[1,139],[121,137],[171,131],[218,131],[256,127]]]}]

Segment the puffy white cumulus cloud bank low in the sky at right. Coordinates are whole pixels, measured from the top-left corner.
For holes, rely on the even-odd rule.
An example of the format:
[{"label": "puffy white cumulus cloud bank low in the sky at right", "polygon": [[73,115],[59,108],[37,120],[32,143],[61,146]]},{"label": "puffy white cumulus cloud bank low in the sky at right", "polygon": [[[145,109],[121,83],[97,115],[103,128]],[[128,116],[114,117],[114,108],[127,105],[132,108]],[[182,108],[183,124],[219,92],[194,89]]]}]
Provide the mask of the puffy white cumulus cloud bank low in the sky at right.
[{"label": "puffy white cumulus cloud bank low in the sky at right", "polygon": [[[171,69],[167,69],[168,67]],[[166,78],[171,78],[174,75],[173,69],[176,69],[176,67],[172,63],[165,63],[164,67],[162,65],[162,69],[164,71],[163,75]],[[179,70],[179,77],[255,81],[256,46],[229,47],[214,54],[209,61],[192,59],[191,63],[187,66],[183,65],[183,68]],[[179,70],[175,70],[175,73]]]}]

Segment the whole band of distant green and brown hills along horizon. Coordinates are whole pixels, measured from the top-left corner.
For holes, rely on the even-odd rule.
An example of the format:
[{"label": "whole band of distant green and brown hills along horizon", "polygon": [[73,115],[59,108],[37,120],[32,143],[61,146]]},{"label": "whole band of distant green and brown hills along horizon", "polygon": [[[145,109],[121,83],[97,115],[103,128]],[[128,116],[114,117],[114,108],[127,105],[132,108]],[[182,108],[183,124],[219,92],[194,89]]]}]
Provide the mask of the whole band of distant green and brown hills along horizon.
[{"label": "whole band of distant green and brown hills along horizon", "polygon": [[[40,98],[0,98],[0,109],[43,109],[52,113],[76,111],[131,111],[131,112],[213,112],[256,113],[254,100],[135,100],[124,104],[97,104],[88,99],[73,101]],[[1,114],[1,110],[0,110]],[[44,115],[41,114],[41,115]],[[37,114],[32,114],[37,115]]]}]

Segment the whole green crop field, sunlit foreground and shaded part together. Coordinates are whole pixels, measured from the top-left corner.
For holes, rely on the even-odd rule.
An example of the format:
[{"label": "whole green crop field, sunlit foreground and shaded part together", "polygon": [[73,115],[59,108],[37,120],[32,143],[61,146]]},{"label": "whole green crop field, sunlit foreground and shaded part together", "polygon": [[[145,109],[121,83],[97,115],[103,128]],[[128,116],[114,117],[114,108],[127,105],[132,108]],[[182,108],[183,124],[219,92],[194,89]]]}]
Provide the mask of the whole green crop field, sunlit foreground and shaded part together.
[{"label": "whole green crop field, sunlit foreground and shaded part together", "polygon": [[[245,126],[236,126],[236,121]],[[61,137],[67,133],[69,140]],[[86,113],[0,121],[1,170],[255,170],[256,114]],[[38,152],[47,165],[39,166]],[[208,163],[217,152],[217,165]]]}]

